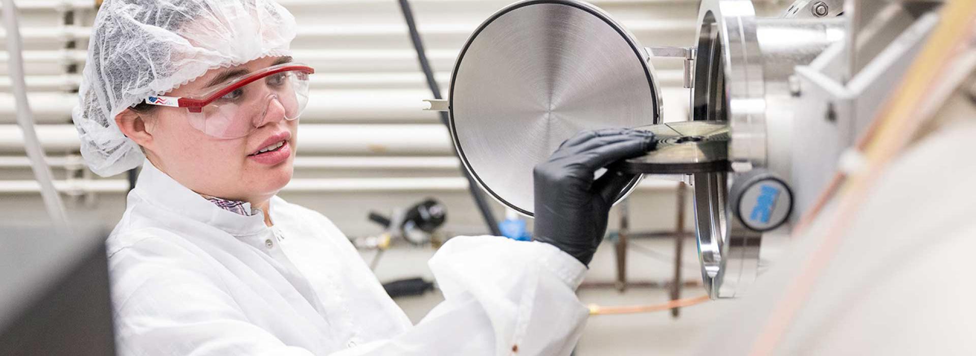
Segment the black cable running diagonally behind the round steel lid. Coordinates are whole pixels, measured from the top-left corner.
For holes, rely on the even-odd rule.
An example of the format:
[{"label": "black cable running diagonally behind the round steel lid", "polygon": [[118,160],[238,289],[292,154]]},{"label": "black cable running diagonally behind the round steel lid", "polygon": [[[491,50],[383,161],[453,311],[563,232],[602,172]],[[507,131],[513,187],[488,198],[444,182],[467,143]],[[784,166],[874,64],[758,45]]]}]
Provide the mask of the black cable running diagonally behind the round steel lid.
[{"label": "black cable running diagonally behind the round steel lid", "polygon": [[[424,75],[427,76],[427,86],[430,88],[430,92],[433,93],[434,99],[443,99],[440,96],[440,86],[437,85],[437,80],[433,77],[433,69],[430,68],[430,62],[427,60],[427,53],[424,52],[424,43],[421,41],[420,32],[417,31],[417,23],[414,22],[414,12],[410,9],[410,3],[407,0],[399,1],[400,10],[403,11],[403,18],[407,21],[407,28],[410,30],[410,40],[414,44],[414,50],[417,51],[417,59],[420,60],[421,69],[424,70]],[[440,123],[444,124],[445,127],[450,126],[447,113],[440,112],[439,114]],[[455,156],[457,155],[457,152],[455,152]],[[461,170],[461,173],[465,175],[465,178],[468,178],[468,192],[474,198],[474,204],[478,207],[478,211],[481,212],[481,218],[484,218],[485,224],[488,225],[488,231],[491,231],[492,235],[502,236],[502,230],[498,228],[498,220],[495,219],[495,215],[491,211],[491,206],[485,201],[481,192],[477,190],[477,182],[471,178],[467,170]]]}]

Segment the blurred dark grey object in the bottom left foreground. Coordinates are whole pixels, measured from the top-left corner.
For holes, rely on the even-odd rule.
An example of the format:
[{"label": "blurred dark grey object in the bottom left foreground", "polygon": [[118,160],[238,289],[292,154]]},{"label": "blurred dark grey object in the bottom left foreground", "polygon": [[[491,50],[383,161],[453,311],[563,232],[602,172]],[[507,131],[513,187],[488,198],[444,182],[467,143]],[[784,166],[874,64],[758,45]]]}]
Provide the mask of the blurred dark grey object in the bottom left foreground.
[{"label": "blurred dark grey object in the bottom left foreground", "polygon": [[0,227],[0,355],[114,355],[104,240]]}]

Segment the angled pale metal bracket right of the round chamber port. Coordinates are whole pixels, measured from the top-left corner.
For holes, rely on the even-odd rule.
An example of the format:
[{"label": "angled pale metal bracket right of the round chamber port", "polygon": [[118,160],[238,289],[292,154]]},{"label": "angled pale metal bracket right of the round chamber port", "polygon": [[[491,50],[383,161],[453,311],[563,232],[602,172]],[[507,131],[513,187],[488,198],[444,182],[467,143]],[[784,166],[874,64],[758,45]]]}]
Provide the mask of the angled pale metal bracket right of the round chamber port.
[{"label": "angled pale metal bracket right of the round chamber port", "polygon": [[795,68],[796,105],[806,109],[796,111],[793,145],[821,147],[817,155],[797,150],[783,158],[794,162],[798,215],[818,210],[817,197],[834,172],[857,165],[858,138],[871,130],[874,116],[940,20],[934,11],[940,1],[848,0],[846,5],[855,19],[845,40]]}]

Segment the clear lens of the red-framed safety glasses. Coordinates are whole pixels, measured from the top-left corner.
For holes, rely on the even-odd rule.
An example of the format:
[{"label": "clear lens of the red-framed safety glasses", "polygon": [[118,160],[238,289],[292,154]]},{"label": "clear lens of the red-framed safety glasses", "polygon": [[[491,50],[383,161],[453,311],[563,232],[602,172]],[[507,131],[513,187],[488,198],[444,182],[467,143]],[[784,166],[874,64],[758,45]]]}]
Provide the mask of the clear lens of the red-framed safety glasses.
[{"label": "clear lens of the red-framed safety glasses", "polygon": [[232,89],[201,112],[191,110],[190,125],[214,138],[243,138],[282,115],[296,120],[308,103],[308,73],[282,71]]}]

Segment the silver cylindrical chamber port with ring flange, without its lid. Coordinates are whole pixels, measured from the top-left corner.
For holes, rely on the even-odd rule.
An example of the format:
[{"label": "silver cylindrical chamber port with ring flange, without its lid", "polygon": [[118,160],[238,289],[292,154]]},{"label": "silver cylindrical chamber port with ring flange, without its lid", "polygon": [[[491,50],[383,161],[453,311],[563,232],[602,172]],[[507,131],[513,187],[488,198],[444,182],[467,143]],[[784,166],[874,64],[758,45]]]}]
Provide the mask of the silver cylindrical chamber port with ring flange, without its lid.
[{"label": "silver cylindrical chamber port with ring flange, without its lid", "polygon": [[[843,26],[835,18],[757,19],[749,0],[702,3],[692,116],[729,123],[728,154],[734,169],[764,168],[789,178],[793,68],[840,41]],[[736,297],[747,290],[760,264],[763,234],[729,215],[728,186],[736,175],[692,178],[702,278],[712,298]]]}]

